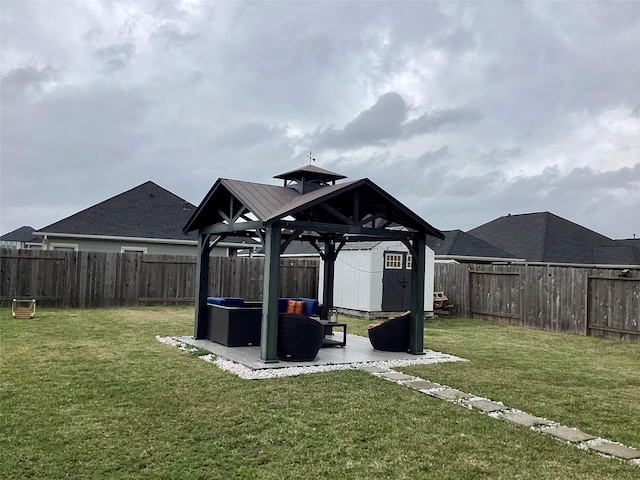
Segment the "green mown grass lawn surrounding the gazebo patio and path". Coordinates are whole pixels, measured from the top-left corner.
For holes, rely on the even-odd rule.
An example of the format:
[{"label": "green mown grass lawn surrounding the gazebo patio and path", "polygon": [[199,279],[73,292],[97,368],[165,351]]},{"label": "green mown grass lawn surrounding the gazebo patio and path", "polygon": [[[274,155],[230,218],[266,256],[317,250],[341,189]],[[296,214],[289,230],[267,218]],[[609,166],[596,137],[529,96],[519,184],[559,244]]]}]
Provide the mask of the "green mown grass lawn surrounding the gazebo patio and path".
[{"label": "green mown grass lawn surrounding the gazebo patio and path", "polygon": [[[183,307],[0,309],[0,478],[640,478],[363,371],[247,381],[155,340],[192,323]],[[638,344],[437,319],[425,346],[470,361],[403,371],[640,447]]]}]

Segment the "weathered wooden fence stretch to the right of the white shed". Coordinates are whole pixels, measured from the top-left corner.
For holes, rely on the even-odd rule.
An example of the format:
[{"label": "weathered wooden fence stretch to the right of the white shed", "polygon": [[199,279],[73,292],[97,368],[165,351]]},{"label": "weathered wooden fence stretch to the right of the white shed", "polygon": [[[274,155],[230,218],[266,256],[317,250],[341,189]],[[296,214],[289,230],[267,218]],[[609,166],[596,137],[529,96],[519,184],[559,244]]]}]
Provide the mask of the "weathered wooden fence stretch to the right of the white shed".
[{"label": "weathered wooden fence stretch to the right of the white shed", "polygon": [[454,313],[544,330],[640,341],[640,279],[621,270],[441,264],[436,291]]}]

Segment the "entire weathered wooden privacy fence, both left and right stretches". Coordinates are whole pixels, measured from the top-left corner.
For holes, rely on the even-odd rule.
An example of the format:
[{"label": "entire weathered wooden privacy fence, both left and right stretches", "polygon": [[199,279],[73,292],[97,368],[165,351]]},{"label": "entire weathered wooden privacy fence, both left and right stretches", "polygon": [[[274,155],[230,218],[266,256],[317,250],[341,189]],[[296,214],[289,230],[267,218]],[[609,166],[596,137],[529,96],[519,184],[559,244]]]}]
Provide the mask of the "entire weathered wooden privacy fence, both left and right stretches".
[{"label": "entire weathered wooden privacy fence, both left and right stretches", "polygon": [[[280,292],[316,297],[319,260],[281,260]],[[262,299],[264,260],[211,257],[212,296]],[[640,341],[640,279],[621,270],[526,265],[435,265],[434,286],[454,314]],[[182,255],[2,249],[0,300],[55,307],[195,302],[196,259]]]}]

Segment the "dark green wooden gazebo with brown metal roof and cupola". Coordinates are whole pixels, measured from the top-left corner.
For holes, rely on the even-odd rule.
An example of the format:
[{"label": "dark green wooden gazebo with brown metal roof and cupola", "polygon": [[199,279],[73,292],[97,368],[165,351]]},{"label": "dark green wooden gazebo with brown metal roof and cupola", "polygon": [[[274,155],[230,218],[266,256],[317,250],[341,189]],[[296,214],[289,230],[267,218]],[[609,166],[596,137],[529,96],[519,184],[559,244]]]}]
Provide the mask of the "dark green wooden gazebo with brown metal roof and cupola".
[{"label": "dark green wooden gazebo with brown metal roof and cupola", "polygon": [[277,362],[280,254],[290,242],[313,245],[323,259],[321,318],[333,308],[334,265],[347,242],[401,241],[413,256],[409,353],[423,353],[426,236],[443,234],[368,178],[315,165],[276,175],[282,186],[220,178],[184,227],[198,231],[194,337],[204,338],[209,254],[227,236],[246,235],[264,247],[260,359]]}]

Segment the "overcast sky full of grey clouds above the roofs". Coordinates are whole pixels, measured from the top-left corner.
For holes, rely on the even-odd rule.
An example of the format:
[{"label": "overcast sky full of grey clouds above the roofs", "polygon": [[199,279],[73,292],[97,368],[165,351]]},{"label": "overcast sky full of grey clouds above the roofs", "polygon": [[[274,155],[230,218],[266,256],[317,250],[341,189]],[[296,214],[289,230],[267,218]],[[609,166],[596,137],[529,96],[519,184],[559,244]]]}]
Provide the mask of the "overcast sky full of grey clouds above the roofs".
[{"label": "overcast sky full of grey clouds above the roofs", "polygon": [[0,3],[0,233],[309,163],[640,237],[640,2]]}]

